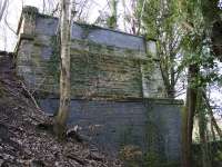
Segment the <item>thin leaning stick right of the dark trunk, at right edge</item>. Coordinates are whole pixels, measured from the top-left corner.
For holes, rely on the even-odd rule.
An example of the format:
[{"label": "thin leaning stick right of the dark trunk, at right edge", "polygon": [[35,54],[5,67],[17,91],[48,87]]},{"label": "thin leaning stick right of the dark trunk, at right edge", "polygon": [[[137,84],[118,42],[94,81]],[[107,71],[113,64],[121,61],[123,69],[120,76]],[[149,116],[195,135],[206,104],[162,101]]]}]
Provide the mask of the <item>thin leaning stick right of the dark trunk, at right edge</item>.
[{"label": "thin leaning stick right of the dark trunk, at right edge", "polygon": [[204,100],[205,100],[206,108],[208,108],[209,111],[210,111],[211,121],[212,121],[213,126],[215,127],[215,130],[216,130],[218,135],[219,135],[220,138],[222,139],[222,130],[220,129],[219,125],[216,124],[216,120],[215,120],[215,118],[214,118],[214,116],[213,116],[213,111],[212,111],[211,105],[210,105],[210,102],[209,102],[209,99],[208,99],[205,92],[203,92],[202,95],[203,95],[203,98],[204,98]]}]

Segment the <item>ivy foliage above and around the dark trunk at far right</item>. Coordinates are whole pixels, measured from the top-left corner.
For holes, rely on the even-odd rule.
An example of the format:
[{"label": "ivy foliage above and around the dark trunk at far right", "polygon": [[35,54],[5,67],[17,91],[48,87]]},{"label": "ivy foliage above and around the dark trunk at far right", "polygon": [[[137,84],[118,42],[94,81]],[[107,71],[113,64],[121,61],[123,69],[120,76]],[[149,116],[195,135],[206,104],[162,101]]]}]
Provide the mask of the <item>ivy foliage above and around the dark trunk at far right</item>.
[{"label": "ivy foliage above and around the dark trunk at far right", "polygon": [[200,68],[200,73],[193,80],[193,87],[206,87],[209,84],[222,80],[210,40],[211,26],[220,13],[216,4],[216,0],[186,0],[182,6],[186,24],[186,36],[182,41],[182,66],[196,65]]}]

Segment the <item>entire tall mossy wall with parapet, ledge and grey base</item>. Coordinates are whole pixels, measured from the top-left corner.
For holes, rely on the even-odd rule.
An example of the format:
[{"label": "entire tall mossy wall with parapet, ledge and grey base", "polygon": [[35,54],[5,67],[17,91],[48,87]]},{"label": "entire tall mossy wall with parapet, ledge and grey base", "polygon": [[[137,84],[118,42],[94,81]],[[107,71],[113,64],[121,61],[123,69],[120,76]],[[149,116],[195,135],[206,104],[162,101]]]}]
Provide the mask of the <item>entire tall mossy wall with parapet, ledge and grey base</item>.
[{"label": "entire tall mossy wall with parapet, ledge and grey base", "polygon": [[[57,18],[24,8],[16,49],[18,75],[41,95],[40,106],[51,114],[59,105],[57,30]],[[91,144],[109,154],[133,146],[142,161],[152,161],[154,154],[154,161],[180,163],[182,102],[161,99],[164,86],[154,42],[74,22],[70,47],[69,124],[79,125]]]}]

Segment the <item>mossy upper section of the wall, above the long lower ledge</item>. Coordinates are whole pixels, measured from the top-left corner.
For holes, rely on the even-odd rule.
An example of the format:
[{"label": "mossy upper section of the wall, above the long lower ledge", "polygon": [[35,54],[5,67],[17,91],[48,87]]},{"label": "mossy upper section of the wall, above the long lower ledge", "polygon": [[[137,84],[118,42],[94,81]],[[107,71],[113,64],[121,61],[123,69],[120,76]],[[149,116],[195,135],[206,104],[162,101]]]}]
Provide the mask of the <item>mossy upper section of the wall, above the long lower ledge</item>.
[{"label": "mossy upper section of the wall, above the long lower ledge", "polygon": [[[36,8],[23,9],[17,71],[34,91],[59,94],[57,30],[57,18],[41,14]],[[164,96],[154,41],[75,22],[71,39],[72,98]]]}]

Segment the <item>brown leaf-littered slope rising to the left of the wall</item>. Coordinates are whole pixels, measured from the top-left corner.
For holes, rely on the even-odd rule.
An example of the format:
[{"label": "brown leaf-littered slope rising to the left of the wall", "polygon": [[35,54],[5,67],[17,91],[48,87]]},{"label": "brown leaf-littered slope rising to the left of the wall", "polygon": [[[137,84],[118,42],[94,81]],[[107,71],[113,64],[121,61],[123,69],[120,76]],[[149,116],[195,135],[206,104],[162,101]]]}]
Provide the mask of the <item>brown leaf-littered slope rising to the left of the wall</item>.
[{"label": "brown leaf-littered slope rising to the left of the wall", "polygon": [[38,109],[16,76],[11,56],[0,57],[0,167],[120,167],[87,143],[58,141],[40,125],[53,118]]}]

